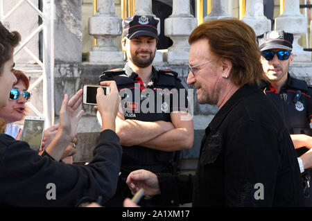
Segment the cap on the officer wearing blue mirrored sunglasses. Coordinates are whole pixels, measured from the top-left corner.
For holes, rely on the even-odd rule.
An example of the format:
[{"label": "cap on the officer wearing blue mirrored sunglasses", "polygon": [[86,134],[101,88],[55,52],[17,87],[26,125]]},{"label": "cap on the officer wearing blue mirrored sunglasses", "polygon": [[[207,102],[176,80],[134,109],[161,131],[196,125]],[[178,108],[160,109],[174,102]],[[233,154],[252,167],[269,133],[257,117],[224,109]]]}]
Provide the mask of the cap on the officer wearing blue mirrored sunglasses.
[{"label": "cap on the officer wearing blue mirrored sunglasses", "polygon": [[257,37],[260,51],[269,49],[293,50],[293,34],[286,33],[284,30],[270,30]]}]

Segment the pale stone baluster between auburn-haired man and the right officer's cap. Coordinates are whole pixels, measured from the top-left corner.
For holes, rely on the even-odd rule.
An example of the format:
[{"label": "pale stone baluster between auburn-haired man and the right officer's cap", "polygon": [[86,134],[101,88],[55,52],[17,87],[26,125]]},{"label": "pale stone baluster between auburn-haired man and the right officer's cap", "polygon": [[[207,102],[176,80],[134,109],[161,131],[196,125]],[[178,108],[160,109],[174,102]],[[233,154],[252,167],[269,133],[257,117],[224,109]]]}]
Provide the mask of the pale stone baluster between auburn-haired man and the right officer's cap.
[{"label": "pale stone baluster between auburn-haired man and the right officer's cap", "polygon": [[242,21],[252,27],[257,36],[271,30],[271,21],[263,14],[263,0],[247,0]]}]

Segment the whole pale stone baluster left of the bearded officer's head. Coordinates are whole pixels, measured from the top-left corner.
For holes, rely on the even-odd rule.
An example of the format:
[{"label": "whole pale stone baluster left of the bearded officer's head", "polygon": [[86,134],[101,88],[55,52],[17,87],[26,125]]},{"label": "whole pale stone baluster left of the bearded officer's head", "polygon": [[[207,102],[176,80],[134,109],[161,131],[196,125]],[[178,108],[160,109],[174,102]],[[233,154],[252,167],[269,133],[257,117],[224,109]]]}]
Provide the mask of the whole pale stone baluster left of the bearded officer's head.
[{"label": "whole pale stone baluster left of the bearded officer's head", "polygon": [[114,45],[121,35],[122,19],[115,14],[114,0],[98,0],[96,14],[89,18],[89,34],[97,40],[89,52],[89,62],[123,62],[123,52]]}]

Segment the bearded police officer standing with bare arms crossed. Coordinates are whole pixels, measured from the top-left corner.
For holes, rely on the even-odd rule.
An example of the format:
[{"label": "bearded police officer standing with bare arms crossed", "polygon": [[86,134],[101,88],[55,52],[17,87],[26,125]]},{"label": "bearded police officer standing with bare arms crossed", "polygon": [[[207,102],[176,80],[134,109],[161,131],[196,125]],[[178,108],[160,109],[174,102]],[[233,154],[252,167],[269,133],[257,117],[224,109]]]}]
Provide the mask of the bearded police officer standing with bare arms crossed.
[{"label": "bearded police officer standing with bare arms crossed", "polygon": [[[106,206],[122,206],[131,197],[125,179],[132,170],[175,173],[175,152],[193,145],[193,121],[187,113],[187,91],[177,73],[156,70],[158,21],[153,16],[134,15],[123,21],[122,47],[128,62],[123,69],[105,71],[103,80],[115,80],[122,112],[116,119],[116,134],[123,147],[121,174],[116,194]],[[141,206],[170,206],[161,197],[141,201]]]}]

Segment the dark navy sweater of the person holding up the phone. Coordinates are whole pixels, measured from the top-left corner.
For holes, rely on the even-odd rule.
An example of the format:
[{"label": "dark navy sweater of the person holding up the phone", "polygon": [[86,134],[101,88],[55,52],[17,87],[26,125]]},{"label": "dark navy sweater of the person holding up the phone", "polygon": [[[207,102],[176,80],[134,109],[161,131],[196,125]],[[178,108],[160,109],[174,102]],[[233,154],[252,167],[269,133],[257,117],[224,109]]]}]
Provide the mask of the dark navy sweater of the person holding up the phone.
[{"label": "dark navy sweater of the person holding up the phone", "polygon": [[2,141],[1,136],[0,205],[76,206],[82,197],[101,195],[105,202],[116,191],[121,146],[112,130],[101,132],[87,166],[41,157],[23,141]]}]

